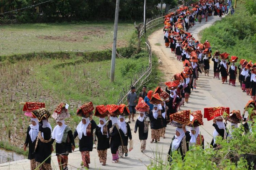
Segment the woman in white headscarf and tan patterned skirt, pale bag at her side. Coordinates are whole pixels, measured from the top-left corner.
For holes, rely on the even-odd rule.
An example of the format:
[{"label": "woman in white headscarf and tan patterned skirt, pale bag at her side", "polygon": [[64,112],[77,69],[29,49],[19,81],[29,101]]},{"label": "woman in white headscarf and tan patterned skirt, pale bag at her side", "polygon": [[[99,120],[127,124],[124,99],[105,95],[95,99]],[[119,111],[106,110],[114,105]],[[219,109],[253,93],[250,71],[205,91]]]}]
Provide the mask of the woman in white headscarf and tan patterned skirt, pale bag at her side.
[{"label": "woman in white headscarf and tan patterned skirt, pale bag at her side", "polygon": [[131,136],[131,128],[129,123],[125,122],[125,116],[120,115],[119,116],[119,128],[120,128],[120,135],[122,137],[123,140],[123,146],[120,145],[118,148],[118,156],[119,157],[125,157],[128,156],[128,138],[131,140],[132,136]]}]

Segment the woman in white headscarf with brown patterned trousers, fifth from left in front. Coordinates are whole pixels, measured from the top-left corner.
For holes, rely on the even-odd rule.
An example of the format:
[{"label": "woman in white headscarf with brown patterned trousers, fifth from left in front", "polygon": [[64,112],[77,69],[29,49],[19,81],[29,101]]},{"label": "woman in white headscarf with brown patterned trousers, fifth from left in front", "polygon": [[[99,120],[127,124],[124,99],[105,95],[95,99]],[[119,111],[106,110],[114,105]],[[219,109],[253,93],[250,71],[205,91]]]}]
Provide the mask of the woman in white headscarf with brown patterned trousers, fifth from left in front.
[{"label": "woman in white headscarf with brown patterned trousers, fifth from left in front", "polygon": [[105,166],[107,150],[109,149],[109,128],[106,125],[106,120],[104,117],[100,117],[100,122],[95,130],[95,135],[98,139],[97,151],[98,156],[100,158],[100,163],[102,163],[102,165]]}]

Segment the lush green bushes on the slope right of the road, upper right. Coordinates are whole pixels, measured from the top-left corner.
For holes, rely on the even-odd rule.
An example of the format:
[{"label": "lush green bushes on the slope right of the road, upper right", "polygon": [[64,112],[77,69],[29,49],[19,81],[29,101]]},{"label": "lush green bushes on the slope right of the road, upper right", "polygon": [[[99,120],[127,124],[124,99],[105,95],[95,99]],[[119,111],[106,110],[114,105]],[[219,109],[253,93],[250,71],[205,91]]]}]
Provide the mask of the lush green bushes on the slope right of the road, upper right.
[{"label": "lush green bushes on the slope right of the road, upper right", "polygon": [[256,62],[256,15],[255,8],[254,13],[250,11],[250,1],[237,1],[235,14],[229,14],[213,26],[204,29],[201,32],[201,41],[209,40],[213,52],[219,50],[239,59]]}]

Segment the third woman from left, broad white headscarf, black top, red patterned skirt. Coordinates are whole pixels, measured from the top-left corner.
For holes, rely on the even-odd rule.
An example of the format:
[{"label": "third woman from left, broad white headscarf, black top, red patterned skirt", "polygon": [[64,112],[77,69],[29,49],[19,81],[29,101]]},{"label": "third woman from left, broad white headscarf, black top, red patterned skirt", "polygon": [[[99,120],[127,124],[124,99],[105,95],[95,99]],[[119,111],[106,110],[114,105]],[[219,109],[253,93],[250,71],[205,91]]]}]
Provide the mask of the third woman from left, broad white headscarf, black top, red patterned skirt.
[{"label": "third woman from left, broad white headscarf, black top, red patterned skirt", "polygon": [[56,156],[60,170],[68,169],[68,155],[75,150],[75,140],[72,130],[63,119],[56,120],[57,125],[53,129],[52,143],[56,140]]}]

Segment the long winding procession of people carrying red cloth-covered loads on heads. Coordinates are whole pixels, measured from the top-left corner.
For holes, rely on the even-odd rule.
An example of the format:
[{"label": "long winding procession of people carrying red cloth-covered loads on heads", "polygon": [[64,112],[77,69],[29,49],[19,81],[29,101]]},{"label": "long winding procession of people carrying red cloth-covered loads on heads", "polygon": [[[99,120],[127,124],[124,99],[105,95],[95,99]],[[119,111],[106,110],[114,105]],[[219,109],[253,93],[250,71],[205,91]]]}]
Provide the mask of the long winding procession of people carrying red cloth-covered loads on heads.
[{"label": "long winding procession of people carrying red cloth-covered loads on heads", "polygon": [[[127,157],[129,151],[133,149],[133,135],[138,132],[140,151],[144,152],[149,127],[150,143],[157,143],[160,138],[165,138],[169,123],[177,127],[176,134],[170,141],[168,152],[170,162],[172,162],[172,153],[175,151],[179,151],[184,158],[189,147],[196,145],[204,148],[204,137],[200,134],[199,128],[203,125],[201,111],[179,112],[179,110],[189,102],[191,91],[197,88],[199,73],[210,76],[210,61],[213,62],[213,78],[220,79],[220,72],[222,84],[227,83],[229,76],[229,85],[236,86],[238,77],[243,92],[252,97],[245,106],[245,111],[249,108],[256,111],[256,63],[241,59],[237,66],[236,62],[239,59],[237,56],[229,58],[229,54],[219,51],[215,51],[212,55],[208,40],[200,43],[188,32],[196,21],[200,24],[205,18],[207,22],[212,14],[221,17],[228,14],[229,9],[232,11],[229,0],[227,4],[217,0],[200,0],[190,8],[183,6],[166,15],[163,28],[165,46],[171,48],[171,53],[175,53],[176,59],[183,65],[183,70],[174,74],[170,81],[165,83],[166,87],[159,86],[147,91],[147,87],[143,86],[139,95],[136,94],[136,87],[131,87],[131,92],[127,96],[127,105],[109,104],[94,107],[92,102],[83,104],[76,112],[77,116],[81,117],[81,121],[74,132],[65,124],[65,119],[70,117],[67,103],[60,103],[55,108],[52,117],[56,121],[56,126],[53,130],[48,122],[51,114],[44,103],[21,103],[24,105],[25,115],[31,117],[31,125],[27,129],[24,144],[24,150],[29,146],[28,159],[30,159],[31,169],[52,169],[51,153],[54,151],[53,143],[55,142],[59,169],[67,170],[68,155],[75,150],[77,137],[84,168],[89,168],[90,152],[93,151],[94,144],[97,145],[99,162],[102,166],[107,163],[108,149],[111,150],[112,163],[118,163],[119,158]],[[134,120],[136,113],[138,117]],[[228,113],[229,116],[224,118],[224,113]],[[99,117],[98,124],[93,120],[93,116]],[[128,117],[127,122],[126,117]],[[252,132],[252,124],[248,124],[247,121],[253,120],[253,116],[244,117],[244,112],[241,115],[240,111],[229,112],[228,107],[212,107],[204,108],[204,117],[213,120],[215,128],[211,142],[213,148],[218,146],[217,136],[221,136],[222,139],[231,139],[232,129],[238,128],[238,123],[242,121],[246,121],[244,127],[247,133]],[[227,127],[227,121],[231,123],[230,128]],[[135,122],[134,127],[130,126],[131,122]],[[186,126],[190,127],[189,131],[186,130]]]}]

